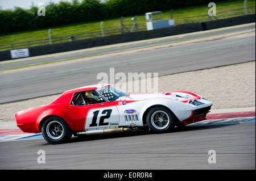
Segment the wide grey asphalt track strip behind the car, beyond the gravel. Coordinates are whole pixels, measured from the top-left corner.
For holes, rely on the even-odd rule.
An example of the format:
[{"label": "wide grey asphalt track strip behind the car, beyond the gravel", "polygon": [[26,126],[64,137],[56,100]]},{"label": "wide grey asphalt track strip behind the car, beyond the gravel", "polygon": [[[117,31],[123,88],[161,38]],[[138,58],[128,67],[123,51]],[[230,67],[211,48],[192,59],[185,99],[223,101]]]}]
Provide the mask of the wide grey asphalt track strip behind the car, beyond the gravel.
[{"label": "wide grey asphalt track strip behind the car, beyond the gravel", "polygon": [[[255,37],[206,41],[1,74],[0,103],[59,94],[101,81],[97,74],[158,73],[161,75],[255,61]],[[117,80],[118,81],[118,80]],[[108,83],[108,82],[105,82]]]}]

